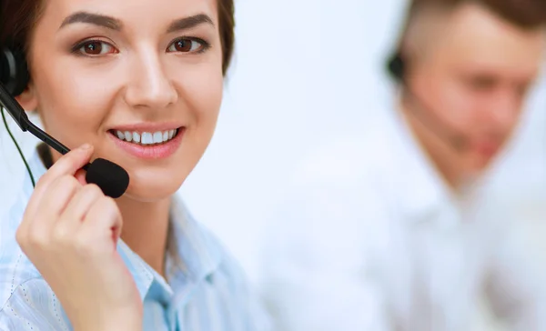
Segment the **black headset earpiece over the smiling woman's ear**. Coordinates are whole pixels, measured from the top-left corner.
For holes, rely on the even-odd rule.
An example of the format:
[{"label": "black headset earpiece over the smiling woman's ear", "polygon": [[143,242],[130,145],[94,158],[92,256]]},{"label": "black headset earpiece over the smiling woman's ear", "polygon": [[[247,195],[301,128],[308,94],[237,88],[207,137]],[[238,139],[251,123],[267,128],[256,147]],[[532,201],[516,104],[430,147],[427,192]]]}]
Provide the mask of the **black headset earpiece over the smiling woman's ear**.
[{"label": "black headset earpiece over the smiling woman's ear", "polygon": [[21,47],[4,47],[0,54],[0,83],[10,95],[21,95],[30,80],[25,53]]}]

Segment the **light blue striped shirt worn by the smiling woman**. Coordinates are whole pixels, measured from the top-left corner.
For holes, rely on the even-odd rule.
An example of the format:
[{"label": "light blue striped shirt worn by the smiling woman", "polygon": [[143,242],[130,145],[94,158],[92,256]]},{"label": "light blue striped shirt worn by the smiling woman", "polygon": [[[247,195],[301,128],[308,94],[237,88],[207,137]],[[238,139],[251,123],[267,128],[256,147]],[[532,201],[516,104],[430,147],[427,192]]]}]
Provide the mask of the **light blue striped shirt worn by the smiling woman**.
[{"label": "light blue striped shirt worn by the smiling woman", "polygon": [[[29,165],[36,180],[45,174],[37,152]],[[0,330],[72,330],[54,292],[15,241],[33,192],[30,178],[14,192],[15,204],[0,211]],[[237,263],[173,200],[171,228],[182,263],[167,255],[168,282],[123,241],[117,246],[143,300],[143,330],[268,330],[268,318]]]}]

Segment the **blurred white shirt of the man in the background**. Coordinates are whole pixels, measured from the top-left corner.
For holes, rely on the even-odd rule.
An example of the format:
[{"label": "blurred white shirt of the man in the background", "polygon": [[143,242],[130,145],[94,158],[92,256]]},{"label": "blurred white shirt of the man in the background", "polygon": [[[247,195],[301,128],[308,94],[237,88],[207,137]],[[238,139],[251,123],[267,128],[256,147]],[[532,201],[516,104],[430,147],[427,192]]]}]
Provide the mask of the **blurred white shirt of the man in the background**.
[{"label": "blurred white shirt of the man in the background", "polygon": [[[263,291],[278,330],[483,330],[483,298],[546,330],[543,267],[494,196],[459,201],[399,115],[308,155],[273,217]],[[474,207],[479,206],[479,207]]]}]

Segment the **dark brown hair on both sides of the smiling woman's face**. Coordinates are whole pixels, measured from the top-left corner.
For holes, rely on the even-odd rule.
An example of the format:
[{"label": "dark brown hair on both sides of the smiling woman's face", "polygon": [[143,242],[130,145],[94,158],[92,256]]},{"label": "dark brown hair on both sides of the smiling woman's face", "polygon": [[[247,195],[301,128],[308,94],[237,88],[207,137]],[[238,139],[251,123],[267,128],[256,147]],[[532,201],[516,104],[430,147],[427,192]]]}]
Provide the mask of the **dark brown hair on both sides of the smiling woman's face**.
[{"label": "dark brown hair on both sides of the smiling woman's face", "polygon": [[[0,44],[13,43],[27,49],[45,1],[0,0]],[[235,44],[235,5],[233,0],[217,0],[217,7],[222,73],[226,75]]]}]

